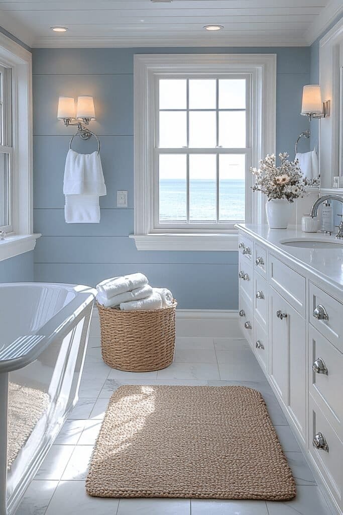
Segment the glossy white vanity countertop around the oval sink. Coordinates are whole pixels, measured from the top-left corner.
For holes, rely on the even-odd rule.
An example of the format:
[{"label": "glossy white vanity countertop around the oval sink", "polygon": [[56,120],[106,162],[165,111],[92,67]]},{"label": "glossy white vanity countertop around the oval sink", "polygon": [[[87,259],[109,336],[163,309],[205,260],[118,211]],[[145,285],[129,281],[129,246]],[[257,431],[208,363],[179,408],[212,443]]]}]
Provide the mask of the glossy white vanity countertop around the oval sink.
[{"label": "glossy white vanity countertop around the oval sink", "polygon": [[261,243],[274,249],[277,253],[297,262],[302,268],[314,273],[317,277],[326,280],[335,287],[343,286],[343,241],[342,245],[330,249],[308,249],[282,245],[287,239],[326,240],[337,242],[334,234],[329,236],[324,233],[305,233],[299,226],[290,226],[289,229],[269,229],[267,225],[238,224],[239,229],[244,230]]}]

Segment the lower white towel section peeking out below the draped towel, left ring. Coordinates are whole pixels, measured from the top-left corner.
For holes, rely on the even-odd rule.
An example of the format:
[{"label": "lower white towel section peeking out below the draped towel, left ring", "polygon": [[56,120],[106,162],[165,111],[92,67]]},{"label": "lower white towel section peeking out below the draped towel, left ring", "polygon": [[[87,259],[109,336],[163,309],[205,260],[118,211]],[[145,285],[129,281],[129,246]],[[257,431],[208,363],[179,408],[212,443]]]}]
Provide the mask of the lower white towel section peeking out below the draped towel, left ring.
[{"label": "lower white towel section peeking out below the draped towel, left ring", "polygon": [[99,224],[99,196],[66,195],[64,218],[67,224]]}]

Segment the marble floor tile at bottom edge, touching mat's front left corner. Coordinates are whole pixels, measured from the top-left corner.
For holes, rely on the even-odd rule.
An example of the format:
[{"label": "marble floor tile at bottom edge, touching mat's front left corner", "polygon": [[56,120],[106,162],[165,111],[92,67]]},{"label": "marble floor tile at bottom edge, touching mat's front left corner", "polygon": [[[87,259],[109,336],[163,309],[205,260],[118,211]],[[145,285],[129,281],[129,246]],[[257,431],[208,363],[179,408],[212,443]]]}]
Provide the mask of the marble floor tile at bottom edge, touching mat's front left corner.
[{"label": "marble floor tile at bottom edge, touching mat's front left corner", "polygon": [[116,515],[118,503],[87,495],[84,481],[61,481],[46,515]]}]

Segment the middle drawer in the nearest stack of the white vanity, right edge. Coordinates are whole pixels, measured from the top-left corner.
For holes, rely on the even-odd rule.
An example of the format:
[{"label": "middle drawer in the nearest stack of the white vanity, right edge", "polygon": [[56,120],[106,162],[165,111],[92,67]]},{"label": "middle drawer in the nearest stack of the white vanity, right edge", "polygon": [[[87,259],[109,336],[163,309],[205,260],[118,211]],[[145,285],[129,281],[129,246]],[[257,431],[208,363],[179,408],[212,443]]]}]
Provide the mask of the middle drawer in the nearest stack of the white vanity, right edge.
[{"label": "middle drawer in the nearest stack of the white vanity, right edge", "polygon": [[310,392],[340,438],[343,437],[341,429],[343,420],[342,370],[343,354],[316,329],[310,327]]}]

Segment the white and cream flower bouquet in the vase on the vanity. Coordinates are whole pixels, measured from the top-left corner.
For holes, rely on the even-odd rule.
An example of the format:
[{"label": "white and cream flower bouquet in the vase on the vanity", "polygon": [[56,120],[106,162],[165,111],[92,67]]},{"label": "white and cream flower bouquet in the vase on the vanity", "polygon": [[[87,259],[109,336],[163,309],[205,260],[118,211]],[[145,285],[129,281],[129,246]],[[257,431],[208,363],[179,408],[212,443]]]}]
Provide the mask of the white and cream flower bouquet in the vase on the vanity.
[{"label": "white and cream flower bouquet in the vase on the vanity", "polygon": [[288,202],[308,195],[298,160],[289,161],[288,157],[286,152],[280,153],[281,165],[276,166],[275,155],[267,154],[259,168],[251,167],[250,172],[256,178],[251,190],[264,193],[268,200],[284,198]]}]

